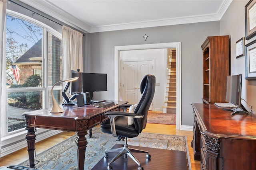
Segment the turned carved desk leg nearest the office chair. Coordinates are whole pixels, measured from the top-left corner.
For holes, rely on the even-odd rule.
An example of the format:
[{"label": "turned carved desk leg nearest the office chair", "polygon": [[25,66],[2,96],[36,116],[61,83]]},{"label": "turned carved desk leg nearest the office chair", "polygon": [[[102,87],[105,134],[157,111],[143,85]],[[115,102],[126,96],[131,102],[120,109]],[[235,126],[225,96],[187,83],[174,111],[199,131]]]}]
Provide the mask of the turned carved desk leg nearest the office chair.
[{"label": "turned carved desk leg nearest the office chair", "polygon": [[86,150],[86,137],[87,131],[84,132],[77,132],[76,131],[76,147],[77,147],[77,160],[78,160],[78,170],[84,170],[84,157],[85,157],[85,150]]}]

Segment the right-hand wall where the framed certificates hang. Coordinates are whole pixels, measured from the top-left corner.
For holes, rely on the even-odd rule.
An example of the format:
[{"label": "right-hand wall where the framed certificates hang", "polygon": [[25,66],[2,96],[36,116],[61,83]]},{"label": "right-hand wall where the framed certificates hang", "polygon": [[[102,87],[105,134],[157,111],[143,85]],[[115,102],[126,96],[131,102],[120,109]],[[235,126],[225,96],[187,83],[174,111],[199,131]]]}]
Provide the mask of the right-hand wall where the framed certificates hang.
[{"label": "right-hand wall where the framed certificates hang", "polygon": [[[230,36],[230,59],[231,75],[242,74],[242,98],[256,108],[256,81],[245,79],[245,57],[236,59],[236,41],[245,37],[245,10],[244,7],[249,1],[233,0],[228,10],[220,21],[220,34]],[[245,40],[245,44],[255,40],[256,37]],[[250,106],[242,101],[242,104],[250,110]],[[255,113],[255,111],[253,112]]]}]

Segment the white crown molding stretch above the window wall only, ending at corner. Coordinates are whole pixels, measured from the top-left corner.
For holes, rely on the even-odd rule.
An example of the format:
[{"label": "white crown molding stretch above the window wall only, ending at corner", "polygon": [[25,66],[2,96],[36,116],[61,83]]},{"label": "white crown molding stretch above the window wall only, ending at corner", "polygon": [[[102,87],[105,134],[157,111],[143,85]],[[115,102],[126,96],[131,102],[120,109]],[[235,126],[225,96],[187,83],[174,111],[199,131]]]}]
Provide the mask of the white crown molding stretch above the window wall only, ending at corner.
[{"label": "white crown molding stretch above the window wall only, ending at corner", "polygon": [[90,26],[84,23],[81,20],[78,20],[76,17],[72,16],[72,14],[69,14],[62,9],[58,8],[58,6],[52,4],[48,0],[20,0],[21,2],[28,4],[29,6],[32,6],[33,8],[36,8],[37,10],[40,10],[44,12],[45,14],[52,16],[53,18],[56,18],[57,20],[72,26],[75,29],[78,29],[79,31],[82,31],[83,33],[89,33]]}]

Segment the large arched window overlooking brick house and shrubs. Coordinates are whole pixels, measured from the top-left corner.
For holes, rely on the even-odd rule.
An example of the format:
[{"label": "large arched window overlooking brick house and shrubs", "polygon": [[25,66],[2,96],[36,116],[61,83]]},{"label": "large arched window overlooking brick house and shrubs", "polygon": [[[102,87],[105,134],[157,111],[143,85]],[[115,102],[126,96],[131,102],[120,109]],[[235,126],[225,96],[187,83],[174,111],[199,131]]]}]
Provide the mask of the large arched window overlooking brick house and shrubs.
[{"label": "large arched window overlooking brick house and shrubs", "polygon": [[[62,80],[61,34],[39,21],[6,16],[6,119],[3,136],[24,130],[24,111],[50,107],[51,86]],[[62,84],[54,88],[62,102]],[[4,114],[4,113],[3,113]]]}]

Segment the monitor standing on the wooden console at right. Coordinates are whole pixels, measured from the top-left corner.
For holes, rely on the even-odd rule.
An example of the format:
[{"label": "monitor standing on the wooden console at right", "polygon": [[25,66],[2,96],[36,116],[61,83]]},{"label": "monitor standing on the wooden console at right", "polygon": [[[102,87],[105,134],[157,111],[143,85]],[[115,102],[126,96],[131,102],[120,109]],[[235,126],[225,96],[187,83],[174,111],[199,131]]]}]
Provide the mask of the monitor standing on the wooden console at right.
[{"label": "monitor standing on the wooden console at right", "polygon": [[241,107],[242,74],[227,76],[226,102]]}]

